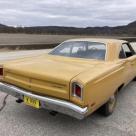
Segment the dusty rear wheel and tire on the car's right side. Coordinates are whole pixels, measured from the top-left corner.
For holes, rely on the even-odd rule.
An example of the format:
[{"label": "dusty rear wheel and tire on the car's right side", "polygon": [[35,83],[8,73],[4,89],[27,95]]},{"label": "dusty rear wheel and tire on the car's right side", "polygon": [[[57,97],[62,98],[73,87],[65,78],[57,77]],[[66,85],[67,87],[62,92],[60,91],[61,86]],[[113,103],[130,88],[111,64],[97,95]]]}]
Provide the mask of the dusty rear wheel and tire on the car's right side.
[{"label": "dusty rear wheel and tire on the car's right side", "polygon": [[105,103],[100,109],[99,112],[105,117],[110,116],[116,107],[117,103],[117,93],[110,97],[107,103]]}]

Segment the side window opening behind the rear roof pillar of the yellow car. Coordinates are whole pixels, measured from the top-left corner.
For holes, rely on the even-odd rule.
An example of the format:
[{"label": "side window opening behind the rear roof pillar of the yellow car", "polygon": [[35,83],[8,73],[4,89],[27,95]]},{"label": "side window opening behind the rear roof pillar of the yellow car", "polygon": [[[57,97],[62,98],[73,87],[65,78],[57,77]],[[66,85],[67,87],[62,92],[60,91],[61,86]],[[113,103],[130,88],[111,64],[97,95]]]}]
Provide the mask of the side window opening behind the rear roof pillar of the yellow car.
[{"label": "side window opening behind the rear roof pillar of the yellow car", "polygon": [[133,55],[134,55],[134,51],[133,51],[132,47],[127,43],[122,44],[119,58],[128,58]]}]

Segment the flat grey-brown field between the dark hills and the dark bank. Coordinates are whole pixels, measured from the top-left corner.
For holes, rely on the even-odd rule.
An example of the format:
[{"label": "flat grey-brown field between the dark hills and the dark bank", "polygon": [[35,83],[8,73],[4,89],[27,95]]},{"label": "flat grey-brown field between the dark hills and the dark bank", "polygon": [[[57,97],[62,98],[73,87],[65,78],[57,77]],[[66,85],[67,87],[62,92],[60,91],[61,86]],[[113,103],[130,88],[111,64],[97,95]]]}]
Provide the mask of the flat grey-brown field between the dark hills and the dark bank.
[{"label": "flat grey-brown field between the dark hills and the dark bank", "polygon": [[[0,34],[0,45],[55,44],[71,38],[95,36],[80,35],[38,35],[38,34]],[[97,36],[96,36],[97,37]],[[107,37],[109,38],[109,37]],[[113,37],[111,37],[113,38]],[[131,37],[130,37],[131,38]],[[135,38],[136,39],[136,38]]]}]

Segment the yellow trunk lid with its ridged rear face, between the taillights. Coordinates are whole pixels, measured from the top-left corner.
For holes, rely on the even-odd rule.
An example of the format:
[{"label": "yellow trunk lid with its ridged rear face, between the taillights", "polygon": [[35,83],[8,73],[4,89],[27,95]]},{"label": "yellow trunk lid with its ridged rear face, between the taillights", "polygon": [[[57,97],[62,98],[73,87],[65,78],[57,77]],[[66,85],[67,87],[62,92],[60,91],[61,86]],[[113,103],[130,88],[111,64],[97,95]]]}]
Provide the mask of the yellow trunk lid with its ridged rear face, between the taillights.
[{"label": "yellow trunk lid with its ridged rear face, between the taillights", "polygon": [[71,79],[94,66],[65,57],[40,56],[5,64],[4,81],[36,94],[68,100]]}]

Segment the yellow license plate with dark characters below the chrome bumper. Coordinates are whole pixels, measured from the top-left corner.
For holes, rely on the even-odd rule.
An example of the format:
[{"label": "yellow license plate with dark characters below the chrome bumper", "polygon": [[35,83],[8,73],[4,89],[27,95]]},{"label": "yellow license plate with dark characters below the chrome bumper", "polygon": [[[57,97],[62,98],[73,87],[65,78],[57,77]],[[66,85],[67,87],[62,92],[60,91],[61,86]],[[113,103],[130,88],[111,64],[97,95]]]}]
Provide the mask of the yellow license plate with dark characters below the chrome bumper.
[{"label": "yellow license plate with dark characters below the chrome bumper", "polygon": [[40,108],[40,101],[28,96],[24,96],[24,103],[37,109]]}]

